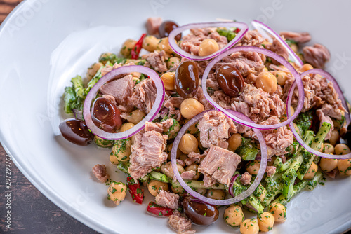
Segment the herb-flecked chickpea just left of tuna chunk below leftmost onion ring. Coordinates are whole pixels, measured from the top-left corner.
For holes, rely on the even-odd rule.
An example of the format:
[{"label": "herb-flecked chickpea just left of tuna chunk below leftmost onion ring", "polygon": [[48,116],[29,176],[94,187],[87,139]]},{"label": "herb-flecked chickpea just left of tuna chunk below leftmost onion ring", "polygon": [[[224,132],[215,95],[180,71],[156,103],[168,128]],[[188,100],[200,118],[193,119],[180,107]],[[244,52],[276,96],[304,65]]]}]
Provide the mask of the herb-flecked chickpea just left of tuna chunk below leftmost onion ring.
[{"label": "herb-flecked chickpea just left of tuna chunk below leftmost onion ring", "polygon": [[110,162],[117,165],[120,162],[126,162],[131,155],[131,139],[120,139],[114,143],[110,153]]}]

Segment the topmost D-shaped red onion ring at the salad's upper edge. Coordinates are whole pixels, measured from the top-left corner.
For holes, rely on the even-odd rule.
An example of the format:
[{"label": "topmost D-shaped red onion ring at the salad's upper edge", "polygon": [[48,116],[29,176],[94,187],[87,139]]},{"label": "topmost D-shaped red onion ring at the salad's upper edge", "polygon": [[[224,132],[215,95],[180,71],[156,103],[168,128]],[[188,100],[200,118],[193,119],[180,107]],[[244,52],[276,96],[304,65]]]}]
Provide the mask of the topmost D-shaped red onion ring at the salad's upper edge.
[{"label": "topmost D-shaped red onion ring at the salad's upper edge", "polygon": [[[177,42],[175,41],[175,37],[180,34],[181,32],[189,29],[198,29],[198,28],[205,28],[205,27],[237,27],[240,29],[240,32],[235,36],[232,41],[227,43],[223,48],[220,48],[220,50],[216,51],[215,53],[207,56],[198,56],[198,55],[191,55],[190,53],[185,52],[182,50]],[[169,41],[169,46],[174,50],[175,53],[178,55],[185,57],[189,60],[195,60],[195,61],[203,61],[203,60],[209,60],[213,57],[216,57],[217,55],[220,55],[220,53],[223,53],[225,50],[228,50],[232,46],[234,46],[243,36],[246,34],[248,31],[249,26],[246,25],[244,22],[204,22],[204,23],[194,23],[194,24],[189,24],[189,25],[183,25],[181,27],[177,27],[176,29],[173,29],[172,32],[168,36],[168,41]]]}]

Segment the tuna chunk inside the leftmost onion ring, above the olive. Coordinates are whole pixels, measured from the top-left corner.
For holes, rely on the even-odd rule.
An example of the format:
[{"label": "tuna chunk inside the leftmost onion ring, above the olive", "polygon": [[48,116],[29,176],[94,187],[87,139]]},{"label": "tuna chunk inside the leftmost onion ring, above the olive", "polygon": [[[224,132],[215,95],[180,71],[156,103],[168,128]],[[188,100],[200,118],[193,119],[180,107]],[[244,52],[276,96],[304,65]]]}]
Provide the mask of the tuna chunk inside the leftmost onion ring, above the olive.
[{"label": "tuna chunk inside the leftmost onion ring, above the olive", "polygon": [[100,87],[100,92],[104,95],[111,95],[117,102],[117,105],[127,106],[128,98],[133,95],[135,81],[133,76],[128,75],[123,78],[105,83]]}]

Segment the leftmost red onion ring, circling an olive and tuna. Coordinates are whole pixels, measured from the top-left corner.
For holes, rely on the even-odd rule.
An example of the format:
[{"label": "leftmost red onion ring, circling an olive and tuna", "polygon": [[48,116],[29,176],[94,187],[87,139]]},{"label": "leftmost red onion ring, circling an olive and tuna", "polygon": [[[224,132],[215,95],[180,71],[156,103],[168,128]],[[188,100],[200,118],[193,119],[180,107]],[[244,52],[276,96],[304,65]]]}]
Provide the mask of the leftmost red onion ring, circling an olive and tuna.
[{"label": "leftmost red onion ring, circling an olive and tuna", "polygon": [[[143,118],[143,120],[136,124],[133,128],[126,130],[125,132],[105,132],[104,130],[98,128],[98,126],[96,126],[91,120],[91,102],[96,97],[100,87],[104,85],[107,81],[111,81],[114,77],[119,76],[121,74],[128,74],[134,71],[145,74],[152,78],[152,81],[154,81],[154,84],[157,88],[157,95],[154,101],[154,105],[152,106],[150,113],[147,113],[147,116],[145,116],[145,118]],[[98,135],[98,137],[101,137],[103,139],[115,140],[126,139],[135,135],[135,133],[138,133],[140,130],[143,130],[143,128],[145,127],[145,122],[152,121],[157,116],[157,113],[159,113],[159,110],[161,109],[161,106],[164,102],[164,95],[164,83],[161,81],[161,78],[159,78],[159,75],[154,70],[139,65],[119,67],[117,69],[113,69],[105,76],[102,76],[98,83],[96,83],[93,86],[93,88],[91,88],[88,95],[86,95],[83,109],[84,120],[86,121],[86,125],[91,130],[91,132],[93,132],[93,134],[95,135]]]}]

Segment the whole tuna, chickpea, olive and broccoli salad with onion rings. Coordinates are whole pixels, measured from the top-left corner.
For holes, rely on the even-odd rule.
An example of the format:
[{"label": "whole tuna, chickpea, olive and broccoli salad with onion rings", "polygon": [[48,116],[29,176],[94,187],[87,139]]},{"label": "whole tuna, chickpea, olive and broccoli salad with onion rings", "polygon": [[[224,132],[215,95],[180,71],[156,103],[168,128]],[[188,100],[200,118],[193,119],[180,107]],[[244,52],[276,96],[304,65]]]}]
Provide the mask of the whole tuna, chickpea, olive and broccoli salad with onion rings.
[{"label": "whole tuna, chickpea, olive and broccoli salad with onion rings", "polygon": [[[112,149],[125,181],[93,167],[107,199],[119,205],[128,193],[178,233],[211,225],[218,209],[240,233],[258,233],[283,223],[300,191],[351,174],[349,107],[323,70],[329,50],[303,46],[307,32],[251,24],[149,18],[147,34],[72,78],[73,118],[60,131]],[[144,202],[147,192],[155,199]]]}]

